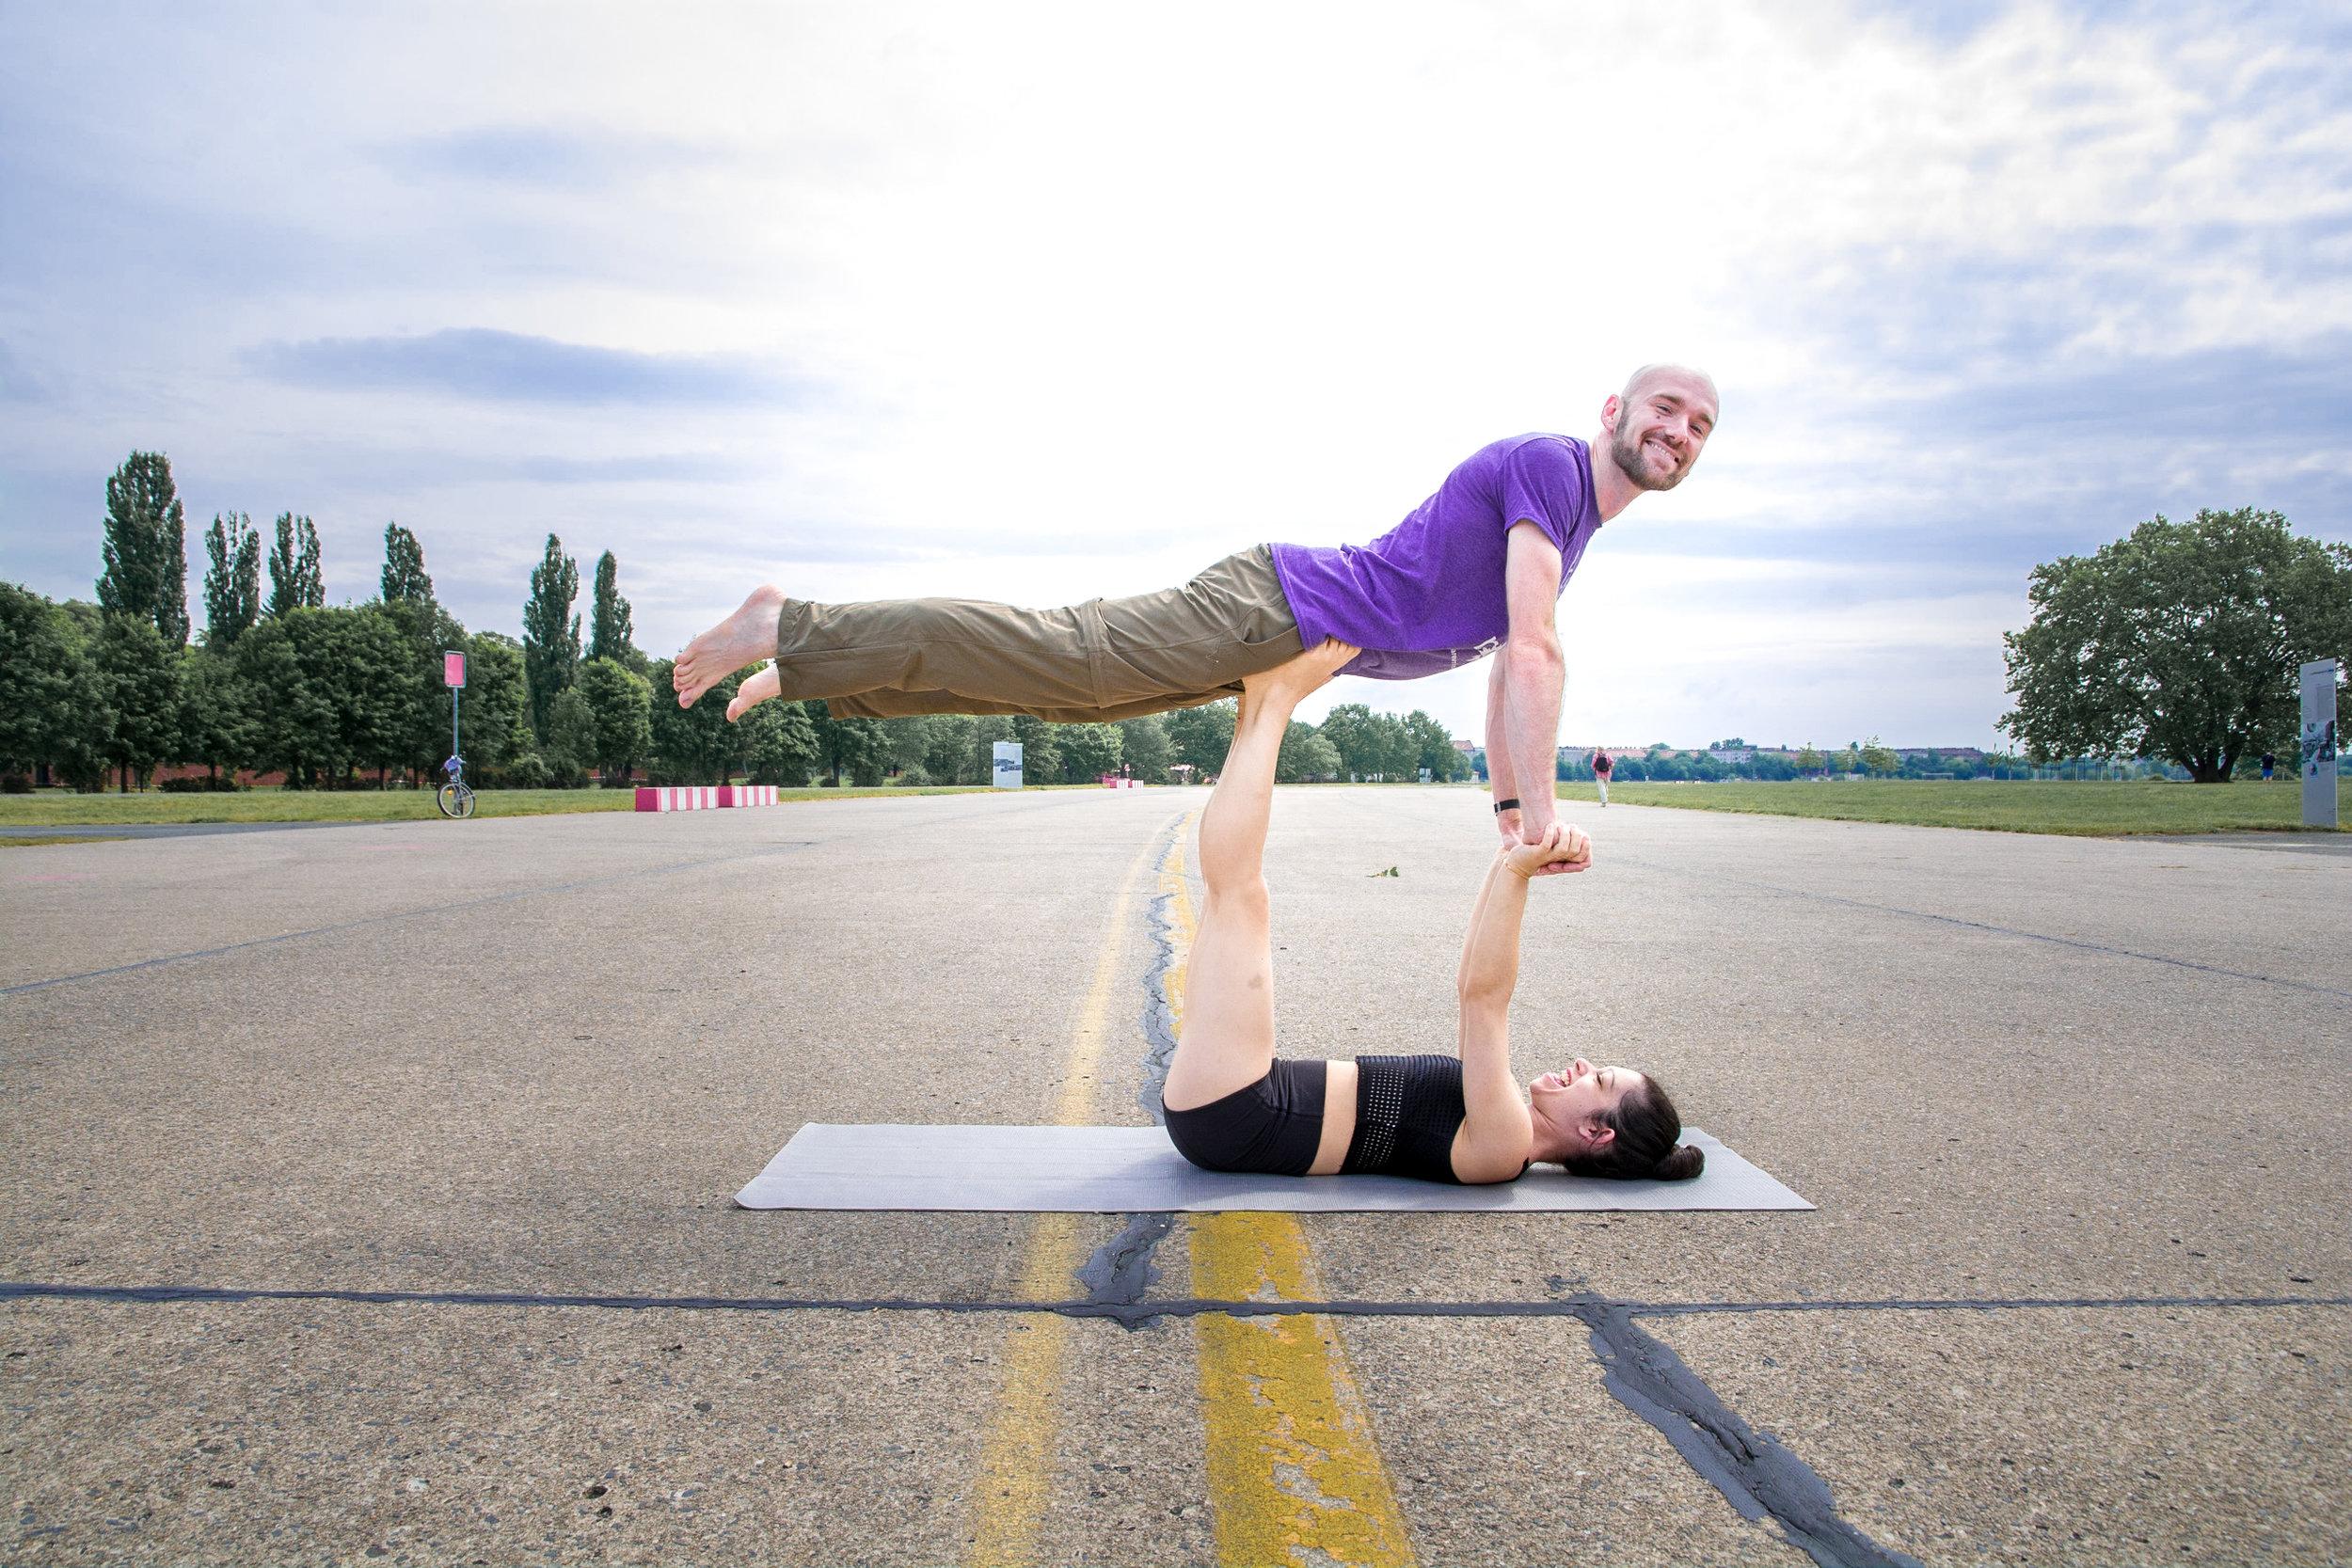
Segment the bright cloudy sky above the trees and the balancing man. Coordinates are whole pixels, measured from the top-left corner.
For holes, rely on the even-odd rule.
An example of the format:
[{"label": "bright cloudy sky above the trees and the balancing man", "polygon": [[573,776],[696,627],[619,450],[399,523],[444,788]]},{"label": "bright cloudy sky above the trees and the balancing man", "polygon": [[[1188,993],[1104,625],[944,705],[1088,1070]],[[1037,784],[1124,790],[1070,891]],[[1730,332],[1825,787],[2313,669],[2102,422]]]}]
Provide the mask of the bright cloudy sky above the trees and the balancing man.
[{"label": "bright cloudy sky above the trees and the balancing man", "polygon": [[[2352,538],[2352,21],[2298,5],[0,5],[0,578],[103,482],[673,651],[1362,541],[1715,371],[1566,741],[1994,745],[2034,562]],[[200,595],[191,585],[191,602]],[[1331,701],[1482,729],[1482,670]]]}]

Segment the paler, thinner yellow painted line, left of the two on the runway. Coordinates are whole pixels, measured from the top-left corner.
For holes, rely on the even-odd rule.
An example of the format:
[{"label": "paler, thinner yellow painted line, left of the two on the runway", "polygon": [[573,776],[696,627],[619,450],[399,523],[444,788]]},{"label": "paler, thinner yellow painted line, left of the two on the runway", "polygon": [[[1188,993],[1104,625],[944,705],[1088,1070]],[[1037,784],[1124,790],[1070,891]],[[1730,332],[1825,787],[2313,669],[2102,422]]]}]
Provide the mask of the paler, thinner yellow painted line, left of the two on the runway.
[{"label": "paler, thinner yellow painted line, left of the two on the runway", "polygon": [[[1063,1072],[1061,1103],[1054,1107],[1056,1126],[1084,1124],[1094,1114],[1094,1088],[1103,1048],[1112,1037],[1112,1018],[1127,1016],[1124,1009],[1112,1009],[1112,999],[1127,973],[1136,889],[1150,860],[1152,851],[1145,844],[1120,879],[1120,893],[1110,905],[1103,954],[1094,964],[1094,985],[1087,987],[1070,1037],[1070,1063]],[[1131,1037],[1131,1030],[1122,1030],[1122,1037]],[[1080,1215],[1037,1215],[1021,1262],[1021,1298],[1065,1298],[1084,1260]],[[1061,1436],[1061,1373],[1068,1352],[1070,1319],[1051,1312],[1023,1314],[1004,1333],[1000,1356],[1004,1378],[971,1483],[971,1540],[964,1549],[969,1568],[1018,1568],[1037,1561],[1037,1528],[1044,1521],[1054,1448]]]}]

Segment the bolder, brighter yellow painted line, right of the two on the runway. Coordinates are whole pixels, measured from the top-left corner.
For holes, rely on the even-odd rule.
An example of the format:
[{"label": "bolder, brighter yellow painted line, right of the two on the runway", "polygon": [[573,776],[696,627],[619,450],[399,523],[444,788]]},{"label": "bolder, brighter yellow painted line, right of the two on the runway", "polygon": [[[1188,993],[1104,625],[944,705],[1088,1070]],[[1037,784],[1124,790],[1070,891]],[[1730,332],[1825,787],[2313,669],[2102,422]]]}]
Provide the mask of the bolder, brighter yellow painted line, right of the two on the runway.
[{"label": "bolder, brighter yellow painted line, right of the two on the runway", "polygon": [[[1185,823],[1190,827],[1190,823]],[[1192,952],[1185,832],[1160,863],[1176,961],[1167,973],[1174,1027],[1183,1027],[1183,971]],[[1192,1293],[1214,1300],[1317,1300],[1322,1284],[1305,1232],[1287,1213],[1197,1215]],[[1209,1512],[1216,1559],[1364,1563],[1409,1568],[1397,1488],[1364,1413],[1338,1324],[1327,1316],[1192,1319],[1200,1403],[1209,1429]]]}]

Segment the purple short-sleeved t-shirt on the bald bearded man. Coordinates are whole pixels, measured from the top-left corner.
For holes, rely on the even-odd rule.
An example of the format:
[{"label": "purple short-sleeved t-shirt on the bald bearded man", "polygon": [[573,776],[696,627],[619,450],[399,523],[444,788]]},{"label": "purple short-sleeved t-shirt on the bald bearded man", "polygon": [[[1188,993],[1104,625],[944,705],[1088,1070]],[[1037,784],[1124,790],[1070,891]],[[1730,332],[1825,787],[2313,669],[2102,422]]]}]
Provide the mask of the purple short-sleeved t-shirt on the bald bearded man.
[{"label": "purple short-sleeved t-shirt on the bald bearded man", "polygon": [[1512,435],[1470,454],[1437,494],[1369,545],[1272,545],[1275,576],[1312,649],[1364,649],[1345,675],[1414,679],[1482,658],[1510,632],[1505,536],[1534,522],[1559,545],[1559,588],[1602,527],[1592,454],[1569,435]]}]

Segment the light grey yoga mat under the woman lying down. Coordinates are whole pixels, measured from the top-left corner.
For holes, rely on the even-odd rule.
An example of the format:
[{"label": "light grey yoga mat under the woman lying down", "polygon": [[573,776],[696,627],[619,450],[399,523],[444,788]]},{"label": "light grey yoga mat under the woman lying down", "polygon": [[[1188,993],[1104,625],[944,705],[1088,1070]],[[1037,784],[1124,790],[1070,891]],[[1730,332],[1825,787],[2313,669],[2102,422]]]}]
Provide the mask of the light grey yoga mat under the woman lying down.
[{"label": "light grey yoga mat under the woman lying down", "polygon": [[1604,1182],[1536,1166],[1498,1187],[1402,1175],[1223,1175],[1157,1126],[840,1126],[811,1121],[755,1175],[743,1208],[976,1208],[1011,1213],[1811,1208],[1698,1128],[1689,1182]]}]

